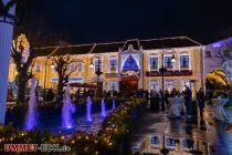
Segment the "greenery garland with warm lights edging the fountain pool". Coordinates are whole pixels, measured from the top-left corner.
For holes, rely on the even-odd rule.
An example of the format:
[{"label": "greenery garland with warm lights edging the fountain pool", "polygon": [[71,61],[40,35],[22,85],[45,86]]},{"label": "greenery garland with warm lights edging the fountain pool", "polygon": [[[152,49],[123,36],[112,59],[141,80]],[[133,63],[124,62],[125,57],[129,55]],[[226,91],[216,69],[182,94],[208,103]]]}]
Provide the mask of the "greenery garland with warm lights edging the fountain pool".
[{"label": "greenery garland with warm lights edging the fountain pool", "polygon": [[53,135],[50,132],[25,132],[13,127],[0,128],[0,152],[4,144],[65,144],[71,146],[72,152],[81,155],[104,154],[112,151],[123,142],[130,131],[131,113],[135,107],[146,104],[143,97],[130,97],[109,114],[102,124],[102,131],[97,135],[85,132],[76,132],[74,135]]}]

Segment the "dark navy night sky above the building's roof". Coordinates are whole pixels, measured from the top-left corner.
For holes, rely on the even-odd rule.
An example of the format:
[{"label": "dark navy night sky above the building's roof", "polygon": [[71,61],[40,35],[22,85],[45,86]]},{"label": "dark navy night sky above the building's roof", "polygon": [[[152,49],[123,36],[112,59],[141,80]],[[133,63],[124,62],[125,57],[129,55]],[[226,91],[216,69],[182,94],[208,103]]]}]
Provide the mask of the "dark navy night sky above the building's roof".
[{"label": "dark navy night sky above the building's roof", "polygon": [[30,7],[73,44],[176,35],[205,43],[232,31],[230,0],[36,0]]}]

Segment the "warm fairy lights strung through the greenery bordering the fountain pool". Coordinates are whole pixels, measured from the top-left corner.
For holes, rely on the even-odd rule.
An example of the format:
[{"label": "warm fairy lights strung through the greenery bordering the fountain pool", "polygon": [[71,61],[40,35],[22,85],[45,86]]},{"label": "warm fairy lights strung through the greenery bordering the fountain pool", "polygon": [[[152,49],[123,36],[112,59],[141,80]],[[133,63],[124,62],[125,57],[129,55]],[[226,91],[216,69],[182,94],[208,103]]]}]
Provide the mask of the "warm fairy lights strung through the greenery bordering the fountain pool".
[{"label": "warm fairy lights strung through the greenery bordering the fountain pool", "polygon": [[[74,147],[77,147],[78,149],[82,149],[87,154],[101,154],[98,151],[96,151],[96,146],[99,145],[109,149],[115,147],[116,144],[120,142],[123,137],[126,136],[126,134],[130,131],[130,125],[127,122],[130,121],[131,111],[134,110],[134,107],[143,105],[143,103],[145,103],[145,100],[131,97],[130,101],[127,101],[124,104],[117,106],[116,110],[112,114],[109,114],[103,122],[102,132],[99,133],[99,135],[87,134],[85,132],[77,132],[73,136],[61,135],[62,132],[60,131],[60,136],[54,136],[50,133],[49,136],[45,134],[40,134],[38,138],[39,141],[42,141],[44,143],[52,142],[57,144],[72,144],[74,145]],[[3,130],[0,128],[0,134],[4,132],[8,133],[7,127],[3,127]],[[34,137],[33,134],[38,135],[38,131],[30,133],[15,131],[15,133],[12,133],[11,136],[8,137],[6,141],[21,141],[22,138],[20,137],[24,136],[24,142],[31,143],[32,141],[34,141],[32,140],[32,137]],[[4,142],[4,138],[0,138],[0,145],[2,145],[2,142]],[[88,146],[86,146],[86,144]]]}]

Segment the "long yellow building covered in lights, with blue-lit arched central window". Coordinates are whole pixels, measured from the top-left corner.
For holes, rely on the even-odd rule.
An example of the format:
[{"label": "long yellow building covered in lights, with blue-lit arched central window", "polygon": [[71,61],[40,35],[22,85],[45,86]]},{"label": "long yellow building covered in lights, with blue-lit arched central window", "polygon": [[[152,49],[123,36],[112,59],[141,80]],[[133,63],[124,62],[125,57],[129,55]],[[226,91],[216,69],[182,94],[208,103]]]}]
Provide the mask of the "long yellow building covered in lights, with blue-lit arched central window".
[{"label": "long yellow building covered in lights, with blue-lit arched central window", "polygon": [[[162,84],[159,69],[164,62],[167,69],[165,90],[176,87],[182,91],[186,86],[190,86],[190,80],[199,81],[197,82],[197,89],[199,89],[204,84],[203,49],[203,45],[187,37],[49,46],[38,51],[32,73],[39,79],[42,87],[45,80],[46,89],[56,89],[57,74],[51,68],[52,60],[46,56],[70,54],[73,59],[70,70],[74,70],[68,76],[70,83],[96,83],[95,71],[99,65],[103,74],[99,75],[98,82],[103,90],[159,91]],[[171,62],[172,56],[176,59],[175,63]],[[92,64],[93,68],[91,68]],[[11,63],[10,81],[15,76],[13,65]]]}]

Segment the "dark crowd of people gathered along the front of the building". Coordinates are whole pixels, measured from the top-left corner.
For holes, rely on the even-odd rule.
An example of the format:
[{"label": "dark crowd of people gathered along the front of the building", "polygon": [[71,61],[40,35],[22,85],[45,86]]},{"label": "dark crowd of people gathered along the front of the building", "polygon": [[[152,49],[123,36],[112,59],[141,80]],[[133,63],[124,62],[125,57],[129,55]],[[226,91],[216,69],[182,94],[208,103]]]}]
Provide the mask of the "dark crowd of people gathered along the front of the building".
[{"label": "dark crowd of people gathered along the front of the building", "polygon": [[[63,92],[63,94],[65,91]],[[72,100],[74,101],[81,101],[83,99],[86,99],[87,96],[96,96],[96,92],[94,89],[77,89],[73,94],[71,94]],[[62,102],[63,94],[57,95],[56,100],[59,102]],[[164,96],[162,96],[164,94]],[[112,96],[124,96],[125,94],[120,94],[120,92],[117,91],[106,91],[104,90],[101,94],[97,94],[98,97],[104,99],[110,99]],[[184,91],[179,92],[176,89],[172,89],[171,91],[166,90],[164,93],[160,90],[159,92],[151,90],[150,92],[148,90],[139,89],[136,93],[136,96],[145,97],[147,102],[150,97],[157,97],[159,99],[159,104],[165,103],[165,106],[169,112],[172,111],[172,105],[178,104],[178,108],[181,114],[186,114],[187,116],[192,115],[192,102],[197,102],[197,105],[199,107],[200,115],[203,115],[203,108],[205,105],[205,100],[208,99],[209,104],[211,103],[211,99],[214,97],[214,95],[208,93],[208,95],[204,94],[204,91],[202,87],[196,92],[194,101],[192,99],[192,92],[189,87],[186,87]],[[218,93],[218,95],[221,95],[222,97],[226,97],[226,93]],[[53,101],[55,97],[55,94],[53,93],[52,89],[50,89],[46,92],[46,102]],[[173,99],[173,100],[171,100]],[[172,107],[171,107],[172,106]]]}]

